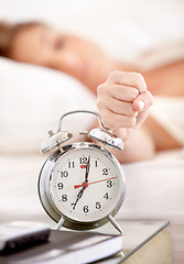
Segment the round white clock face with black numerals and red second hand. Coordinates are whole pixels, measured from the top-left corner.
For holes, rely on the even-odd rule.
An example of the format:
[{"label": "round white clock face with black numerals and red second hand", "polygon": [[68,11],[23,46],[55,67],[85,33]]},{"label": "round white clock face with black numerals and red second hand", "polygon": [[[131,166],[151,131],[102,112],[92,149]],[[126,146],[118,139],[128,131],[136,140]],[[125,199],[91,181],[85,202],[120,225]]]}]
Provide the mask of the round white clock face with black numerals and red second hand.
[{"label": "round white clock face with black numerals and red second hand", "polygon": [[122,199],[122,172],[104,151],[78,147],[62,154],[52,172],[51,198],[75,221],[107,217]]}]

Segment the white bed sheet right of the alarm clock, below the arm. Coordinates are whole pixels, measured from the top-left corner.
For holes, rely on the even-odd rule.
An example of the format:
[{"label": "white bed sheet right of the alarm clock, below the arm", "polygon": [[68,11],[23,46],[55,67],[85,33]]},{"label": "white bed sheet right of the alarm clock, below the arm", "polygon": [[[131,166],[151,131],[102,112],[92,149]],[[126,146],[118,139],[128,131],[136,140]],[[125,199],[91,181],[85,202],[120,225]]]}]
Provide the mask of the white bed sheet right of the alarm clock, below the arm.
[{"label": "white bed sheet right of the alarm clock, below the arm", "polygon": [[134,218],[184,223],[183,151],[163,152],[152,161],[122,167],[128,191],[119,217],[129,219],[134,211]]}]

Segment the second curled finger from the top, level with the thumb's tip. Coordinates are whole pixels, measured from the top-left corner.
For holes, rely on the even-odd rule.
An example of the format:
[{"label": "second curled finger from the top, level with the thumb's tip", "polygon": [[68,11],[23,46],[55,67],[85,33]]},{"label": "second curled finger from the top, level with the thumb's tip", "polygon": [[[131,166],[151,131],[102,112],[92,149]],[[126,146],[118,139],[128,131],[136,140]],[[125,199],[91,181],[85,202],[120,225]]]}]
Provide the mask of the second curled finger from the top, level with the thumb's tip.
[{"label": "second curled finger from the top, level with the thumb's tip", "polygon": [[99,97],[109,96],[122,101],[133,101],[139,95],[139,90],[133,87],[115,84],[104,84],[98,86],[97,95]]}]

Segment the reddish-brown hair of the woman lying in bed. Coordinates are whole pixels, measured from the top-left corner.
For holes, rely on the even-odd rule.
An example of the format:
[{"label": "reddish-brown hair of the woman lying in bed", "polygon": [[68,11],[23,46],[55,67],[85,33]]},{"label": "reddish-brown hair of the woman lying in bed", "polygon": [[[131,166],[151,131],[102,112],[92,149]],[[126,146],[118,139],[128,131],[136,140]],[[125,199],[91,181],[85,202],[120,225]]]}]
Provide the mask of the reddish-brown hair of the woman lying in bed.
[{"label": "reddish-brown hair of the woman lying in bed", "polygon": [[0,22],[0,56],[11,57],[11,48],[14,36],[23,30],[41,24],[42,23],[40,22],[26,22],[12,25]]}]

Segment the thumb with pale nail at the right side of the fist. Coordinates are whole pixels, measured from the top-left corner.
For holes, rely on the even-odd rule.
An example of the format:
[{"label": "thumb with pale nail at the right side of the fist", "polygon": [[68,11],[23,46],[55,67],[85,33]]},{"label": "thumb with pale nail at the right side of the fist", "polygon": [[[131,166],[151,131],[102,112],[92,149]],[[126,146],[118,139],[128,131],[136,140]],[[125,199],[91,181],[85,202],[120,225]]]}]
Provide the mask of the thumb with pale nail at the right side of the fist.
[{"label": "thumb with pale nail at the right side of the fist", "polygon": [[147,111],[153,105],[153,96],[150,91],[140,94],[133,100],[133,109],[134,111]]}]

